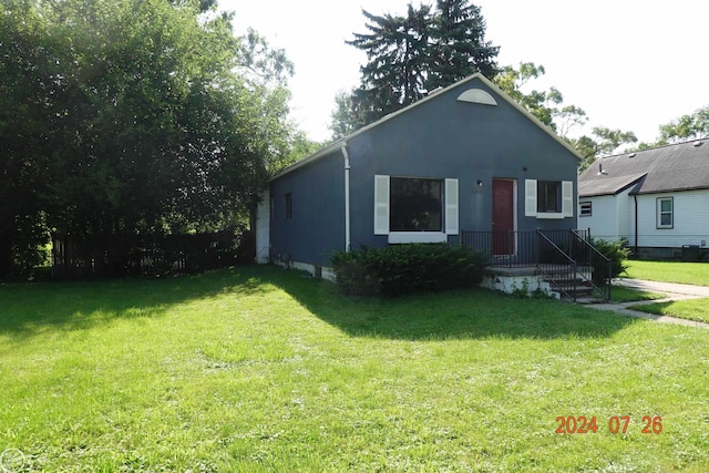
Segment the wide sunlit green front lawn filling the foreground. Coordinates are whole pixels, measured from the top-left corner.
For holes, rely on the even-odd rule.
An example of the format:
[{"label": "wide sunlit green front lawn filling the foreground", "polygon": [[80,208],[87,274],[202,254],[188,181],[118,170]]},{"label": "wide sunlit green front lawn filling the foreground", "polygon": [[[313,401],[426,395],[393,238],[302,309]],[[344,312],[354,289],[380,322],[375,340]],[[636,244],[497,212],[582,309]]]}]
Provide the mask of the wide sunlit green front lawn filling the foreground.
[{"label": "wide sunlit green front lawn filling the foreground", "polygon": [[[0,286],[21,471],[705,472],[708,369],[707,330],[482,289],[360,300],[268,267]],[[597,432],[555,432],[582,415]]]}]

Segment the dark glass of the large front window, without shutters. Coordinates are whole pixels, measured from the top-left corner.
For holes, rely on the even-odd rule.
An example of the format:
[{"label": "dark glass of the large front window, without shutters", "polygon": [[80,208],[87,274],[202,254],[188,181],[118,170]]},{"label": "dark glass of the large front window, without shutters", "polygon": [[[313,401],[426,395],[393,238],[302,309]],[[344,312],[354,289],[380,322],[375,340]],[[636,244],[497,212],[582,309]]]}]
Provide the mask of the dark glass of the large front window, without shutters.
[{"label": "dark glass of the large front window, without shutters", "polygon": [[391,177],[389,186],[390,232],[441,232],[441,179]]}]

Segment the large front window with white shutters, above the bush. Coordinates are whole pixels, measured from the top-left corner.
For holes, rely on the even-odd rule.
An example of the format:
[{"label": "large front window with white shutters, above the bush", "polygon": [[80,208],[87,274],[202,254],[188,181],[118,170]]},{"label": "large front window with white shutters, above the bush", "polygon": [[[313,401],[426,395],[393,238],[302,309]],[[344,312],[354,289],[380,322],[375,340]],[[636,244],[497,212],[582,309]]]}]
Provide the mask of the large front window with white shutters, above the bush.
[{"label": "large front window with white shutters, above the bush", "polygon": [[458,223],[458,179],[374,176],[374,235],[391,244],[446,241]]}]

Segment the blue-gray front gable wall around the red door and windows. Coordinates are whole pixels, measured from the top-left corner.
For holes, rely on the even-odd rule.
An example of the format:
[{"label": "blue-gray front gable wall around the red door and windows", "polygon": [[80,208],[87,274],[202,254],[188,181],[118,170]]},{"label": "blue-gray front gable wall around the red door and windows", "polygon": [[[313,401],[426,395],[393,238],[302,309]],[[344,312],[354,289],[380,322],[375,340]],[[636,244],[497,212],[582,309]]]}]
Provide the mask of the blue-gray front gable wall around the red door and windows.
[{"label": "blue-gray front gable wall around the red door and windows", "polygon": [[[491,229],[492,179],[516,179],[517,229],[575,228],[575,218],[524,217],[524,181],[575,181],[576,157],[504,100],[499,99],[497,106],[461,103],[456,97],[462,90],[452,90],[348,141],[352,248],[387,245],[387,236],[373,233],[376,174],[458,178],[460,228],[466,230]],[[483,182],[482,189],[477,179]],[[458,238],[449,236],[449,240]]]}]

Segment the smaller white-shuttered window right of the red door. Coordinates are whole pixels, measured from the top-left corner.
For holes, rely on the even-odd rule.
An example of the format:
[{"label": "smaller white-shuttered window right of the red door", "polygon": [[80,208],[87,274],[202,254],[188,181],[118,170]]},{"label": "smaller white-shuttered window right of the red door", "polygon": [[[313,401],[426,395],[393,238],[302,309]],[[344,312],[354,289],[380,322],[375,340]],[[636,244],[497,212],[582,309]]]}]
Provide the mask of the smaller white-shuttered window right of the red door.
[{"label": "smaller white-shuttered window right of the red door", "polygon": [[574,216],[574,183],[572,181],[526,179],[524,215],[536,218]]}]

